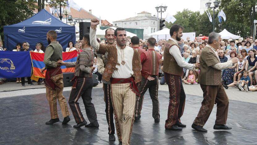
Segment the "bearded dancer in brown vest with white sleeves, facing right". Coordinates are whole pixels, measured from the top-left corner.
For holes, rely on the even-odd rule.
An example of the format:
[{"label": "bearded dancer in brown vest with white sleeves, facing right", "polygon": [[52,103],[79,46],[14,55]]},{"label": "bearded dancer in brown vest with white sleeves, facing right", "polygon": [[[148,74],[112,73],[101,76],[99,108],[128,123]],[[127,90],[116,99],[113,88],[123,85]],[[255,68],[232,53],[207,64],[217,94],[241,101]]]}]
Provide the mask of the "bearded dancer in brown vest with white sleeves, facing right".
[{"label": "bearded dancer in brown vest with white sleeves, facing right", "polygon": [[166,42],[163,53],[163,72],[166,83],[169,87],[170,101],[168,108],[168,118],[165,122],[165,129],[182,130],[186,125],[182,124],[180,117],[183,115],[186,94],[183,89],[181,76],[183,68],[195,70],[200,67],[198,64],[188,64],[180,54],[178,41],[183,36],[183,27],[173,25],[170,29],[171,38]]}]

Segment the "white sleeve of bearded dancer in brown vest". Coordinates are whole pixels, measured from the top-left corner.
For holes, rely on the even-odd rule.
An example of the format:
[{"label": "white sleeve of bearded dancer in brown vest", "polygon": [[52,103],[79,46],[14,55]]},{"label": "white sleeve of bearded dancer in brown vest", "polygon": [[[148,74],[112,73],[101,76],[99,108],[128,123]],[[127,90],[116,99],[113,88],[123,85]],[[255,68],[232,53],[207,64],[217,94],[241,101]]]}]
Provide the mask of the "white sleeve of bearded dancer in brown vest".
[{"label": "white sleeve of bearded dancer in brown vest", "polygon": [[180,67],[190,69],[190,70],[193,70],[195,68],[194,64],[188,64],[183,60],[183,57],[181,56],[178,46],[175,46],[175,45],[171,46],[169,52],[175,58],[176,62]]}]

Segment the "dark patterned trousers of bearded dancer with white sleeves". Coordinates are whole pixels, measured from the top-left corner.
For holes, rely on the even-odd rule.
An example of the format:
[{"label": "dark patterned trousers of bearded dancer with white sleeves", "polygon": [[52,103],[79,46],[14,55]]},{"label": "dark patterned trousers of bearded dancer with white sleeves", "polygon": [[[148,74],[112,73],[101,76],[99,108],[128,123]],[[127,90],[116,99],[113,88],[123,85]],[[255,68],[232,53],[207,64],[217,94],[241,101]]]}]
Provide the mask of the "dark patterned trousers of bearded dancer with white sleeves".
[{"label": "dark patterned trousers of bearded dancer with white sleeves", "polygon": [[168,118],[165,121],[165,128],[170,129],[177,121],[181,122],[180,117],[184,112],[186,94],[180,76],[165,73],[164,77],[170,93]]}]

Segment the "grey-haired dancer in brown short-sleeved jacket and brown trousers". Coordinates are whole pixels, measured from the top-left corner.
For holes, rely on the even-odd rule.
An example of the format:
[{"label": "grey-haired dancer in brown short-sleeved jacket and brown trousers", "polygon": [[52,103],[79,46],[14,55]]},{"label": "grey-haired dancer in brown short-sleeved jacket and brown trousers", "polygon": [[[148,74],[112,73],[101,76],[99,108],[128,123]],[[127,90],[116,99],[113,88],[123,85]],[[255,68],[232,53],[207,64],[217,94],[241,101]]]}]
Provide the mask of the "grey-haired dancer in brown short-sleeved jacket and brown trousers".
[{"label": "grey-haired dancer in brown short-sleeved jacket and brown trousers", "polygon": [[217,114],[214,130],[230,130],[231,127],[226,126],[228,117],[229,99],[221,83],[221,70],[232,67],[232,64],[238,62],[235,57],[230,61],[221,63],[216,50],[221,42],[221,35],[218,33],[210,33],[208,45],[205,46],[200,57],[201,73],[198,81],[203,90],[203,101],[199,113],[192,124],[192,128],[197,131],[207,132],[203,128],[208,120],[214,103],[217,103]]}]

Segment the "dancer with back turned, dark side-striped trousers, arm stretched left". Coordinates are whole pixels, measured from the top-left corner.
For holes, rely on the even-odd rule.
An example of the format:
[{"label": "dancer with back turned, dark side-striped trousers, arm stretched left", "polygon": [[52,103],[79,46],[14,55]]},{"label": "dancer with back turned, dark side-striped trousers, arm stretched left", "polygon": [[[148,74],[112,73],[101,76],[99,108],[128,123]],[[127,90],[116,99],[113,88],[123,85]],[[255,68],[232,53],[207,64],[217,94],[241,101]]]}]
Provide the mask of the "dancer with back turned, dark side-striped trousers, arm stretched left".
[{"label": "dancer with back turned, dark side-striped trousers, arm stretched left", "polygon": [[[82,52],[78,55],[78,59],[75,65],[74,78],[75,80],[72,90],[70,92],[69,104],[73,113],[74,119],[77,125],[74,128],[85,127],[99,128],[97,116],[95,112],[94,104],[91,103],[91,93],[93,88],[92,70],[94,70],[94,54],[91,50],[89,34],[85,34],[82,39]],[[74,67],[74,62],[65,63],[58,61],[62,65],[67,67]],[[90,124],[86,125],[86,121],[80,110],[78,99],[82,97],[85,105],[86,116],[90,121]]]}]

